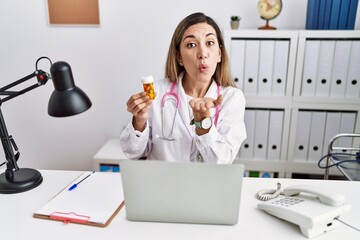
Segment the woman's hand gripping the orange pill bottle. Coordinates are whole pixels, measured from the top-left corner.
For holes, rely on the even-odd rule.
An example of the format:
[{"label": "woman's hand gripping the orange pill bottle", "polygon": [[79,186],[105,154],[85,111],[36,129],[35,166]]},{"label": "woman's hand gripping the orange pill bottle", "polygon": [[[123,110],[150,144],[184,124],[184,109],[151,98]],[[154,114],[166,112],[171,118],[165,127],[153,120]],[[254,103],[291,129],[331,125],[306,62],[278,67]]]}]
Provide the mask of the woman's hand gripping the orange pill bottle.
[{"label": "woman's hand gripping the orange pill bottle", "polygon": [[144,131],[151,103],[152,100],[145,92],[132,95],[126,102],[128,112],[133,115],[132,124],[135,130]]}]

